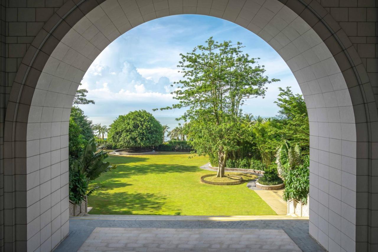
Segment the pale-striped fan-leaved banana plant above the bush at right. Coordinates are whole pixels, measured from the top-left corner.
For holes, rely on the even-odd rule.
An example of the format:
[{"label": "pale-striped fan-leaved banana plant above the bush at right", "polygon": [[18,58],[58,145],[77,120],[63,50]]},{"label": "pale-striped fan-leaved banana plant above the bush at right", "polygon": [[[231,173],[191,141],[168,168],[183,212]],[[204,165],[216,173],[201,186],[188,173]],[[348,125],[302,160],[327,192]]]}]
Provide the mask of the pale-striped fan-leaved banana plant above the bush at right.
[{"label": "pale-striped fan-leaved banana plant above the bush at right", "polygon": [[275,155],[277,172],[281,179],[284,180],[289,170],[293,170],[296,166],[301,164],[301,155],[301,146],[296,144],[295,147],[292,148],[287,140],[277,149]]}]

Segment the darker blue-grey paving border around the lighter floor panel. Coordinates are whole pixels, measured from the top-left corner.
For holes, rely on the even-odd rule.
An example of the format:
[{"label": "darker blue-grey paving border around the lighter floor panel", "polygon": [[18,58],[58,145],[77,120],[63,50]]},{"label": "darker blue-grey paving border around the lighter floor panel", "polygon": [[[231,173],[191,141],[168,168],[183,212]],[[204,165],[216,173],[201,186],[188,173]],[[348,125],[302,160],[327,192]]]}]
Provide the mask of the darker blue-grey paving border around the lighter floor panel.
[{"label": "darker blue-grey paving border around the lighter floor panel", "polygon": [[192,221],[175,219],[86,219],[85,217],[81,217],[70,218],[70,233],[67,238],[54,250],[54,252],[74,252],[79,250],[96,227],[156,229],[279,229],[285,231],[291,240],[293,240],[294,243],[296,243],[296,245],[304,252],[325,251],[308,234],[308,220],[298,218],[277,218],[275,220],[260,219],[248,221]]}]

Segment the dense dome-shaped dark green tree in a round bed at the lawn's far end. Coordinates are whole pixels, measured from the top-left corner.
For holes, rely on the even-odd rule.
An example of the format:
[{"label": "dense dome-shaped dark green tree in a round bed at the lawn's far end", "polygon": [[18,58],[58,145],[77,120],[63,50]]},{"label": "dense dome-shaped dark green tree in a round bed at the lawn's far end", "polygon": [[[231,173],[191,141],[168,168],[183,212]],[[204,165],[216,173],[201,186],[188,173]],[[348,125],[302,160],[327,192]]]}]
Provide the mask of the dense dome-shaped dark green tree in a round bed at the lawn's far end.
[{"label": "dense dome-shaped dark green tree in a round bed at the lawn's far end", "polygon": [[136,110],[110,125],[108,141],[116,148],[158,146],[163,143],[163,126],[146,110]]}]

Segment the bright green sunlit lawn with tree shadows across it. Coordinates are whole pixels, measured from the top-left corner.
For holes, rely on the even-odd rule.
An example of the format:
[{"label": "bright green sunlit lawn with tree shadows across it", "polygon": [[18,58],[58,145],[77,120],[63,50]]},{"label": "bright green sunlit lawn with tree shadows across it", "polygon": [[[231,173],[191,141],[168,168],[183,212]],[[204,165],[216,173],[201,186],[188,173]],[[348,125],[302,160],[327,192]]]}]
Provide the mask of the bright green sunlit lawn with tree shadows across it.
[{"label": "bright green sunlit lawn with tree shadows across it", "polygon": [[90,213],[276,215],[265,201],[246,187],[246,183],[202,184],[200,177],[212,173],[199,168],[208,158],[194,156],[189,159],[191,156],[180,152],[110,156],[107,160],[118,166],[95,181],[95,186],[102,187],[89,197],[88,205],[93,207]]}]

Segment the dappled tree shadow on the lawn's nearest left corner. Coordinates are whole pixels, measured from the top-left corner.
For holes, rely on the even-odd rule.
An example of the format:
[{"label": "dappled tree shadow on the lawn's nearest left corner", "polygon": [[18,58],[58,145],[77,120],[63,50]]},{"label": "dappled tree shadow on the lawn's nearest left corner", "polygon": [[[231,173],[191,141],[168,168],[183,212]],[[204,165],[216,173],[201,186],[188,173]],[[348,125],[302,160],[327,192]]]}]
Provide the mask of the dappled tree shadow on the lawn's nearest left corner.
[{"label": "dappled tree shadow on the lawn's nearest left corner", "polygon": [[89,198],[93,207],[90,214],[135,215],[135,211],[148,211],[149,215],[158,212],[166,198],[155,193],[106,193],[101,192]]}]

